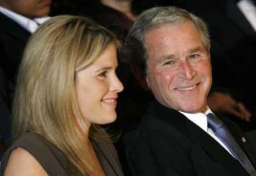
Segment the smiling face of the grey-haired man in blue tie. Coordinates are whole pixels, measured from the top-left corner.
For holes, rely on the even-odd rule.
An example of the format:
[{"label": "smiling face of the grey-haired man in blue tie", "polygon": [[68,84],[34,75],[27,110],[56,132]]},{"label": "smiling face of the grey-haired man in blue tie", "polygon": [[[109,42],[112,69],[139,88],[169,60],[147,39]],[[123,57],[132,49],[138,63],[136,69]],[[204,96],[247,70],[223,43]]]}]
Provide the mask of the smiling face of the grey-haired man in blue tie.
[{"label": "smiling face of the grey-haired man in blue tie", "polygon": [[147,83],[156,99],[178,111],[203,112],[211,88],[209,52],[192,22],[166,24],[145,35]]}]

